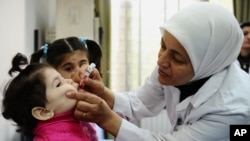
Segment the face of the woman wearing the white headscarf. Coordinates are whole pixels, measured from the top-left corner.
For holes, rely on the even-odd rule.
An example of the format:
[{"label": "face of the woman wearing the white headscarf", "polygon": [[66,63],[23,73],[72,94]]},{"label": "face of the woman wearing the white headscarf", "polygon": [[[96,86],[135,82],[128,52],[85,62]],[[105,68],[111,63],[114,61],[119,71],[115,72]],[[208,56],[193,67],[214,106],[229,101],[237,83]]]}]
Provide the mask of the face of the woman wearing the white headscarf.
[{"label": "face of the woman wearing the white headscarf", "polygon": [[158,79],[164,85],[183,85],[194,76],[189,56],[183,46],[165,31],[158,54]]}]

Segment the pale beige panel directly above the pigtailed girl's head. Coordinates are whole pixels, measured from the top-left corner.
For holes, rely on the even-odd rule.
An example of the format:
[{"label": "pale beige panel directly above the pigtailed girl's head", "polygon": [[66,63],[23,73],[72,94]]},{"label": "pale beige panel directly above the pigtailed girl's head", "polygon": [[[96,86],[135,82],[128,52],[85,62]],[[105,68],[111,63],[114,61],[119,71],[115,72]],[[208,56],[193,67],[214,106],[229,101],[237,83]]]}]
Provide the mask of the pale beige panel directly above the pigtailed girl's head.
[{"label": "pale beige panel directly above the pigtailed girl's head", "polygon": [[57,0],[56,5],[56,39],[94,39],[94,0]]}]

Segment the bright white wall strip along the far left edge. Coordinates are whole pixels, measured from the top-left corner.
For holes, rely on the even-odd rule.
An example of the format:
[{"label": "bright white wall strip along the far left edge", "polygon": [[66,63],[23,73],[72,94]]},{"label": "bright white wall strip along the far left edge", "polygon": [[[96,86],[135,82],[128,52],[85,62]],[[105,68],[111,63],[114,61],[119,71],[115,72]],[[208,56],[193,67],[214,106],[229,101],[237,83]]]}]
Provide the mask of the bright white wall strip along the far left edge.
[{"label": "bright white wall strip along the far left edge", "polygon": [[[0,1],[0,88],[2,99],[2,84],[8,78],[7,71],[10,68],[11,57],[17,52],[23,52],[25,46],[24,36],[24,0],[1,0]],[[13,105],[14,106],[14,105]],[[17,140],[14,136],[15,129],[10,122],[0,116],[0,140]]]}]

